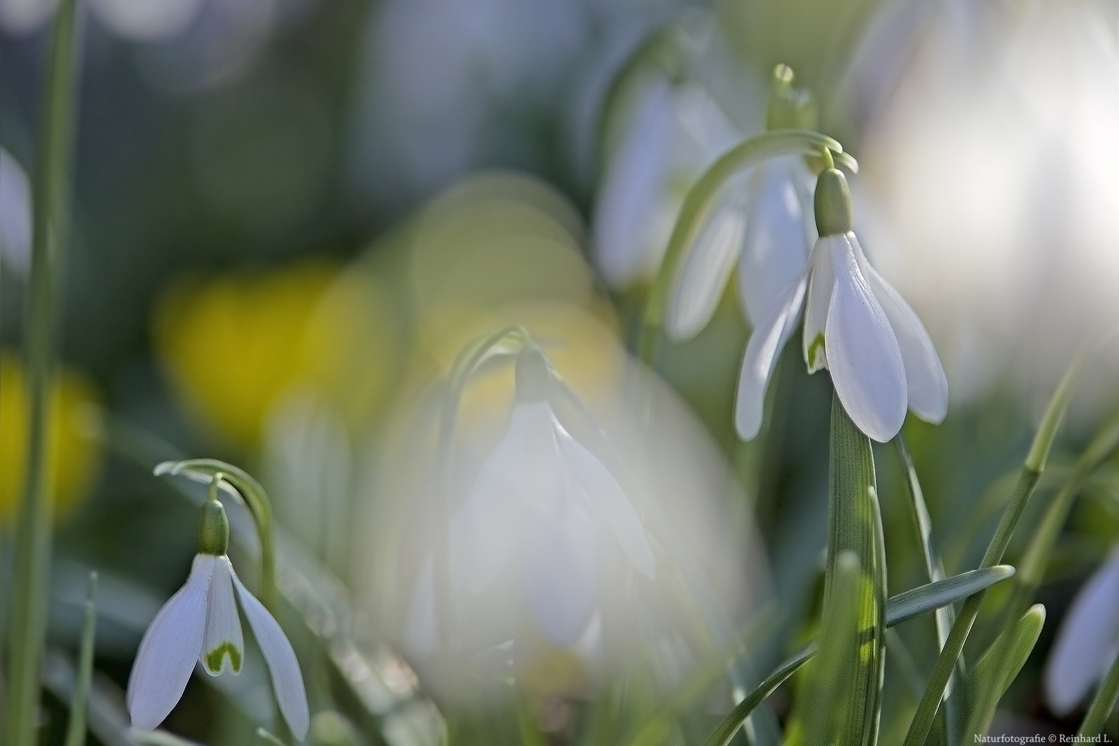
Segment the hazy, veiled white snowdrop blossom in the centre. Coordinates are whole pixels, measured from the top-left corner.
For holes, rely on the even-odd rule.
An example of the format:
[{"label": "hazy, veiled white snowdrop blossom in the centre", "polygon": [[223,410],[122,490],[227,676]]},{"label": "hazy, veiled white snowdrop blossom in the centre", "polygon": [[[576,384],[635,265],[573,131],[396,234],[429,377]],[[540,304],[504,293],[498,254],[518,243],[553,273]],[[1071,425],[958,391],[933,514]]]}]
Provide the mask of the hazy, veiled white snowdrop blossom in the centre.
[{"label": "hazy, veiled white snowdrop blossom in the centre", "polygon": [[[548,404],[548,377],[538,350],[518,355],[508,428],[450,516],[448,555],[460,605],[511,587],[552,643],[574,646],[600,603],[602,553],[619,548],[648,578],[655,560],[621,484]],[[433,591],[429,559],[410,612],[414,652],[435,648]]]}]

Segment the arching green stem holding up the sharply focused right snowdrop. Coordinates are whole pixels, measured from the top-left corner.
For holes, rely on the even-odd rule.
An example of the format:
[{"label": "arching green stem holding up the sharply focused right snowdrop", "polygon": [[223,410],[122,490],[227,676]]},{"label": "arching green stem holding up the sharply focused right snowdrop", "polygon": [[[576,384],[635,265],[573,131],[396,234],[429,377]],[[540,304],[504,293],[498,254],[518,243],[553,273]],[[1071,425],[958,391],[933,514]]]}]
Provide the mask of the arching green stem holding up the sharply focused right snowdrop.
[{"label": "arching green stem holding up the sharply focused right snowdrop", "polygon": [[673,234],[665,249],[665,257],[649,291],[641,332],[638,337],[638,357],[651,366],[657,349],[665,314],[665,301],[671,286],[676,267],[684,251],[695,237],[718,188],[735,173],[771,158],[782,155],[819,155],[834,152],[837,160],[853,171],[858,170],[854,158],[843,152],[843,145],[831,138],[811,130],[771,130],[732,148],[716,160],[693,185],[680,206],[680,214],[673,226]]}]

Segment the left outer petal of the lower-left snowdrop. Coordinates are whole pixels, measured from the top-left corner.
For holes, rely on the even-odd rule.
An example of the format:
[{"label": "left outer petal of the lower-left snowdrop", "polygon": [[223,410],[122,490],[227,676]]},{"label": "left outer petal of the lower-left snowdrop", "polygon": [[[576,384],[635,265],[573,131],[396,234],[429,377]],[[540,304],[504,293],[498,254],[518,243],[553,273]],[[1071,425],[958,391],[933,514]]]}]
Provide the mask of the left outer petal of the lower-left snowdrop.
[{"label": "left outer petal of the lower-left snowdrop", "polygon": [[196,555],[187,583],[163,604],[137,651],[125,696],[132,726],[152,730],[182,697],[203,648],[206,597],[217,557]]}]

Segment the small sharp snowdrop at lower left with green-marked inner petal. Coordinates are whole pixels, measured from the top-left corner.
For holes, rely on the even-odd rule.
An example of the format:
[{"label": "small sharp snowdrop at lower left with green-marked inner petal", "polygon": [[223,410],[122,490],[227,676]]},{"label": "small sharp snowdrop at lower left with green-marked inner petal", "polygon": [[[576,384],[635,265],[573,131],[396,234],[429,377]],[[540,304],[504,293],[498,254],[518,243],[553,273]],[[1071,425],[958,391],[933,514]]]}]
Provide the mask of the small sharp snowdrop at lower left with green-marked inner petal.
[{"label": "small sharp snowdrop at lower left with green-marked inner petal", "polygon": [[210,676],[241,673],[245,644],[236,592],[272,676],[280,712],[302,740],[310,714],[299,661],[283,630],[237,578],[225,554],[228,542],[225,509],[216,499],[207,500],[190,576],[159,610],[140,641],[125,699],[132,726],[151,730],[163,721],[182,697],[196,661]]}]

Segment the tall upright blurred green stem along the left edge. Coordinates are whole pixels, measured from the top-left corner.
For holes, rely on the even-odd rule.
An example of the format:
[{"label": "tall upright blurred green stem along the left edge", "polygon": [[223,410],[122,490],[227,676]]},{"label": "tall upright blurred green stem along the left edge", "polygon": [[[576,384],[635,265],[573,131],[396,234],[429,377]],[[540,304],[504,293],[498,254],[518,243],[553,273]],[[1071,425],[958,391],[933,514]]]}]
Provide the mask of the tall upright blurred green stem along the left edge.
[{"label": "tall upright blurred green stem along the left edge", "polygon": [[31,278],[27,315],[30,423],[27,469],[16,529],[15,589],[9,638],[9,746],[30,746],[39,703],[39,667],[46,634],[50,566],[47,448],[49,398],[56,358],[59,283],[68,233],[75,100],[75,3],[55,17],[36,169]]}]

